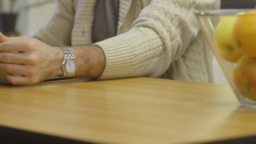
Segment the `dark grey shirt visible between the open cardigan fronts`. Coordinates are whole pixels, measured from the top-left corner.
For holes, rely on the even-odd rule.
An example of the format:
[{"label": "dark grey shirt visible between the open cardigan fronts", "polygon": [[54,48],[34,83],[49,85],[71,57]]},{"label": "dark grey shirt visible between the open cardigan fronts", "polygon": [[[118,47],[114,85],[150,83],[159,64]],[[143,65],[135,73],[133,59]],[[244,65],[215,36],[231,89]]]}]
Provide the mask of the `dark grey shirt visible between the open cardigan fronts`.
[{"label": "dark grey shirt visible between the open cardigan fronts", "polygon": [[117,34],[119,0],[97,0],[94,7],[92,42],[114,37]]}]

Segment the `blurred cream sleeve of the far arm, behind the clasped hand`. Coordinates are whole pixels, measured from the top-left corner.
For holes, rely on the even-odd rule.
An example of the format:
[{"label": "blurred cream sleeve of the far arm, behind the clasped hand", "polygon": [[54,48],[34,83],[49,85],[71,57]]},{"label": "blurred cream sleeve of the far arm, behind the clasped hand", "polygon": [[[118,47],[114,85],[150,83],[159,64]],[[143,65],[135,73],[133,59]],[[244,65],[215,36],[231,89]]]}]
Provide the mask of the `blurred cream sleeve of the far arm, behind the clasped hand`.
[{"label": "blurred cream sleeve of the far arm, behind the clasped hand", "polygon": [[57,1],[54,15],[45,26],[33,36],[51,46],[71,45],[74,23],[74,7],[71,0]]}]

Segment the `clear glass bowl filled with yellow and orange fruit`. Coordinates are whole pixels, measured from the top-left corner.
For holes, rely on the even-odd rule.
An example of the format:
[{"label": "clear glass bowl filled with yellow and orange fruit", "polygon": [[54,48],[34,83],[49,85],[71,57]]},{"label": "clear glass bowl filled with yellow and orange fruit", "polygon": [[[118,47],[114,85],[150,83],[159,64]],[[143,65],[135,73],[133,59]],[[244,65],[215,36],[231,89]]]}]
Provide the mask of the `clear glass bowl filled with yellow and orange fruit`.
[{"label": "clear glass bowl filled with yellow and orange fruit", "polygon": [[256,109],[256,10],[195,11],[241,105]]}]

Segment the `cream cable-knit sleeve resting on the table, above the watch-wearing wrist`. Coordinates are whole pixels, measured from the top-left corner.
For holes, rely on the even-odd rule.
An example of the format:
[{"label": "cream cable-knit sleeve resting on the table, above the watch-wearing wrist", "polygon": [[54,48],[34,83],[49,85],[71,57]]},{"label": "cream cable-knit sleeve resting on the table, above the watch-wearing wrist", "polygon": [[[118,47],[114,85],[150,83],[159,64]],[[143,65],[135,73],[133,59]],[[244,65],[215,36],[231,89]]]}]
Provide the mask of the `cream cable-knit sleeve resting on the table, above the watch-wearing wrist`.
[{"label": "cream cable-knit sleeve resting on the table, above the watch-wearing wrist", "polygon": [[218,0],[153,0],[130,31],[95,44],[106,56],[100,79],[160,76],[197,37],[194,11],[218,7]]}]

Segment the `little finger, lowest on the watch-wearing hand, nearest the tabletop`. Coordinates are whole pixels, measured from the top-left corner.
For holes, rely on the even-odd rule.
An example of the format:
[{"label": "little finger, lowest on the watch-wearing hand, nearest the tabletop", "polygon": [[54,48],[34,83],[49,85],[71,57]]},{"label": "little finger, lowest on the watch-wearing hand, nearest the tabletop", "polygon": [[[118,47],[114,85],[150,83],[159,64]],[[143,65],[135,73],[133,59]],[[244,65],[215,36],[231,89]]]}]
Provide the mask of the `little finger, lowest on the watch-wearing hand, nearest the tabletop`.
[{"label": "little finger, lowest on the watch-wearing hand, nearest the tabletop", "polygon": [[6,75],[7,80],[13,85],[33,85],[37,83],[35,80],[28,76],[17,76],[13,74]]}]

